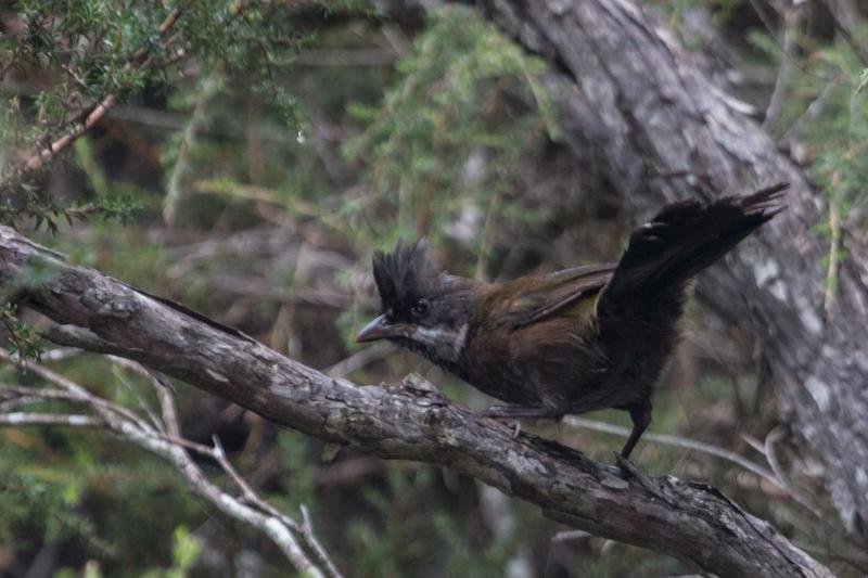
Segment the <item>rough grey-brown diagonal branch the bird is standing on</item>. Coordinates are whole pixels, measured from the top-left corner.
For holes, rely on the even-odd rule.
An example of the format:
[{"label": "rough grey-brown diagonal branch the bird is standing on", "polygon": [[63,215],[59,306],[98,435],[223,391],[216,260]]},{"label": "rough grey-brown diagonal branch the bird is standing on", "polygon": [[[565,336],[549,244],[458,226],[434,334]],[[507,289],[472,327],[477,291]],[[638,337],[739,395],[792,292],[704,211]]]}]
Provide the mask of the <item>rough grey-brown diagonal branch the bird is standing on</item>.
[{"label": "rough grey-brown diagonal branch the bird is standing on", "polygon": [[454,468],[554,519],[720,576],[831,576],[712,487],[637,477],[552,441],[513,437],[432,390],[328,377],[235,330],[71,266],[5,227],[0,279],[5,295],[56,323],[53,341],[135,359],[307,435]]}]

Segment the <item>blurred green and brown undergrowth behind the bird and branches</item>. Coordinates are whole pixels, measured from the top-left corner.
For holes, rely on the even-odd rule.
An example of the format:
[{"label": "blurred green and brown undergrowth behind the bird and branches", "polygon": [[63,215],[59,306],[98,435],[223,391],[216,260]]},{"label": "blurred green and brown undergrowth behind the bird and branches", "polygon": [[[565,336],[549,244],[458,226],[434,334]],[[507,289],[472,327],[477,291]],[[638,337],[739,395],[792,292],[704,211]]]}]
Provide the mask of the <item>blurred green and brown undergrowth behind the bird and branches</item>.
[{"label": "blurred green and brown undergrowth behind the bird and branches", "polygon": [[[846,2],[844,2],[847,4]],[[188,2],[163,65],[124,67],[175,5],[0,3],[0,218],[148,292],[358,383],[416,372],[472,408],[490,400],[387,345],[353,336],[376,311],[370,256],[427,237],[452,273],[489,281],[617,258],[633,226],[618,191],[586,178],[560,140],[547,65],[474,10],[425,2]],[[150,4],[150,3],[149,3]],[[844,38],[827,2],[647,2],[863,234],[868,180],[868,11]],[[177,41],[173,40],[176,39]],[[175,41],[175,43],[173,43]],[[184,53],[177,59],[178,47]],[[155,49],[156,50],[156,49]],[[782,54],[788,55],[782,55]],[[151,59],[149,56],[149,59]],[[125,60],[127,59],[127,60]],[[156,61],[154,61],[156,62]],[[791,81],[775,93],[781,68]],[[100,123],[35,176],[17,171],[69,114],[110,90]],[[833,223],[817,222],[817,235]],[[834,258],[834,257],[833,257]],[[25,321],[27,319],[25,318]],[[651,431],[649,474],[720,488],[842,576],[868,571],[810,464],[794,463],[750,335],[691,301]],[[101,356],[43,356],[136,408],[136,380]],[[5,380],[33,380],[4,367]],[[119,385],[122,380],[131,387]],[[129,385],[129,384],[128,384]],[[273,504],[310,509],[347,576],[661,576],[690,564],[566,528],[538,509],[430,465],[323,445],[182,383],[188,438],[219,436]],[[585,418],[628,425],[622,412]],[[611,462],[617,434],[527,427]],[[673,445],[679,444],[678,445]],[[774,470],[788,489],[709,448]],[[768,455],[769,442],[775,449]],[[688,447],[685,447],[688,446]],[[771,463],[769,463],[769,461]],[[206,471],[219,478],[216,468]],[[812,514],[814,510],[819,517]],[[174,573],[174,574],[173,574]],[[292,574],[263,535],[193,496],[169,464],[98,431],[0,429],[0,575]]]}]

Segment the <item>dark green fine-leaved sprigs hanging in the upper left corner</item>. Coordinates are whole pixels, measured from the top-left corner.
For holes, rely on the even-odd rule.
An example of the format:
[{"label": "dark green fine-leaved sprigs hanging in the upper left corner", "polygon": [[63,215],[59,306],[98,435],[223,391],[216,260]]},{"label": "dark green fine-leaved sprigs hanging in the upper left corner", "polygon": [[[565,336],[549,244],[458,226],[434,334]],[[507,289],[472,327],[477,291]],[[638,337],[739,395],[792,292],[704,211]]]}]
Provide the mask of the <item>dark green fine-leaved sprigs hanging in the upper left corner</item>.
[{"label": "dark green fine-leaved sprigs hanging in the upper left corner", "polygon": [[[275,63],[315,38],[305,23],[310,10],[354,10],[340,1],[297,7],[284,2],[106,2],[98,0],[20,0],[14,9],[25,28],[0,42],[0,78],[15,70],[39,70],[52,85],[33,90],[26,101],[0,102],[0,115],[15,117],[0,128],[0,222],[35,219],[52,233],[58,221],[91,215],[129,218],[140,201],[113,193],[94,179],[87,151],[81,168],[98,194],[69,206],[39,187],[25,165],[51,142],[75,137],[81,123],[108,97],[120,101],[145,88],[168,91],[178,84],[178,63],[195,59],[203,78],[218,74],[242,78],[302,134],[295,98],[278,79]],[[27,117],[26,123],[18,118]],[[15,155],[8,152],[15,151]]]}]

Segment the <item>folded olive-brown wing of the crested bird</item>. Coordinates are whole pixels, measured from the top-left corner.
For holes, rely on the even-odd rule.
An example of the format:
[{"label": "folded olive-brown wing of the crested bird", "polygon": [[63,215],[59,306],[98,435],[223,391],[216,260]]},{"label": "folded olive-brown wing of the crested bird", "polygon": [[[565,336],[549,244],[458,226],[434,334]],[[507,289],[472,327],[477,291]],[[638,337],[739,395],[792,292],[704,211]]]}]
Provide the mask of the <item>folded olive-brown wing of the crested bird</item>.
[{"label": "folded olive-brown wing of the crested bird", "polygon": [[515,329],[529,325],[583,296],[597,294],[614,270],[615,264],[590,265],[548,275],[519,279],[513,283],[520,283],[521,291],[503,287],[506,294],[518,296],[507,304],[502,317],[498,316],[499,321]]}]

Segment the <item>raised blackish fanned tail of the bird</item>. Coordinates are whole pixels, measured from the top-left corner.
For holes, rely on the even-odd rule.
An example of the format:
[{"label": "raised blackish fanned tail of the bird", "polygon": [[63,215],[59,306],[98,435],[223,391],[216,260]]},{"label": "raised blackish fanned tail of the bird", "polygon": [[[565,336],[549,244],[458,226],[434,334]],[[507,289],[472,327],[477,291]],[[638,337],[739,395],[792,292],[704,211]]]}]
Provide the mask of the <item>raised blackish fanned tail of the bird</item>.
[{"label": "raised blackish fanned tail of the bird", "polygon": [[[630,235],[627,251],[601,295],[615,313],[630,305],[680,301],[685,283],[768,222],[782,207],[779,183],[745,196],[712,203],[684,201],[664,207]],[[602,312],[602,311],[601,311]]]}]

